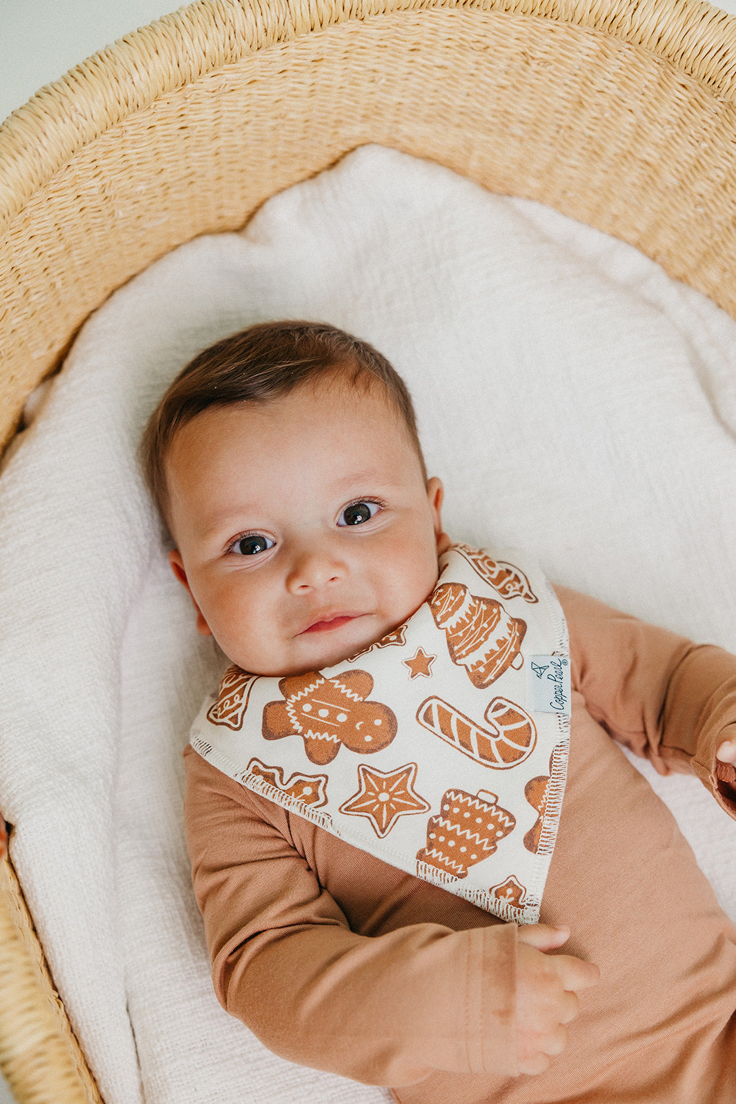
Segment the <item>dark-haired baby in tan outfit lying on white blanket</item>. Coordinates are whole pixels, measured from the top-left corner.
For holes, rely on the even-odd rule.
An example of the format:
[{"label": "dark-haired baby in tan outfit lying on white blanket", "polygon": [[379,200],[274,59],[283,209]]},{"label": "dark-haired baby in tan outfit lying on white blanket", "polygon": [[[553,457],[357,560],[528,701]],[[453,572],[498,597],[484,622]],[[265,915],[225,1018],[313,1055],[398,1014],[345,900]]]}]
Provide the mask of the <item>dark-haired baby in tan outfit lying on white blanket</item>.
[{"label": "dark-haired baby in tan outfit lying on white blanket", "polygon": [[[143,458],[198,629],[236,673],[288,680],[383,647],[451,546],[405,385],[329,326],[266,323],[205,350]],[[542,922],[504,923],[190,746],[217,997],[277,1053],[402,1104],[733,1104],[736,931],[610,736],[662,773],[695,771],[736,815],[736,659],[556,593],[572,737]]]}]

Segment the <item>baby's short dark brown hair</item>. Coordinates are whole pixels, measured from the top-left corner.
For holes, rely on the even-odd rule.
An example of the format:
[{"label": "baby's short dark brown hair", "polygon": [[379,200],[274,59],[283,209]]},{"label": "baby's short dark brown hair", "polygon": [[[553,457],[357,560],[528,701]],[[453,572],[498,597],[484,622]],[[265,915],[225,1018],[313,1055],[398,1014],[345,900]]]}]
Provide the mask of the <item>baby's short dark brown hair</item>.
[{"label": "baby's short dark brown hair", "polygon": [[260,322],[199,353],[170,384],[151,414],[140,443],[143,477],[164,521],[169,495],[166,457],[177,433],[210,407],[269,403],[326,378],[366,390],[376,382],[406,426],[427,471],[408,389],[385,357],[327,322]]}]

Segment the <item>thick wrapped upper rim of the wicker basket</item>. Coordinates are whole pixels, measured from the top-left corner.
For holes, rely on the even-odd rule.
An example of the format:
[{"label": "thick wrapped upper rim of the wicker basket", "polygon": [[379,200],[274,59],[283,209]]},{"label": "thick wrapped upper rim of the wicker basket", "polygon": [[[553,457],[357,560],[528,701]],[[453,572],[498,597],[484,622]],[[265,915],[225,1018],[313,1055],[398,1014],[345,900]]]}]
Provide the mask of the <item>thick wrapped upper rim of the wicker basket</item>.
[{"label": "thick wrapped upper rim of the wicker basket", "polygon": [[434,8],[602,32],[736,103],[736,18],[705,0],[196,0],[75,65],[0,125],[0,227],[77,150],[158,97],[277,42],[349,20]]}]

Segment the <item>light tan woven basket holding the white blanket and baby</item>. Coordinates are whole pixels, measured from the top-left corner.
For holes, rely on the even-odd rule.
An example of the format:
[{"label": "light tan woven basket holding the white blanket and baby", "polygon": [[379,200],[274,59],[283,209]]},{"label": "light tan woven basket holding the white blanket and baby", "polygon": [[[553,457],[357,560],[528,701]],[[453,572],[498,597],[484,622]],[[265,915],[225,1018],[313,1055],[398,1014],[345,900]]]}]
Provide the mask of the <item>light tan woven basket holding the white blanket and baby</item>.
[{"label": "light tan woven basket holding the white blanket and baby", "polygon": [[[110,291],[365,142],[607,231],[736,317],[725,13],[689,0],[200,0],[0,127],[0,443]],[[21,1104],[100,1100],[7,860],[0,1065]]]}]

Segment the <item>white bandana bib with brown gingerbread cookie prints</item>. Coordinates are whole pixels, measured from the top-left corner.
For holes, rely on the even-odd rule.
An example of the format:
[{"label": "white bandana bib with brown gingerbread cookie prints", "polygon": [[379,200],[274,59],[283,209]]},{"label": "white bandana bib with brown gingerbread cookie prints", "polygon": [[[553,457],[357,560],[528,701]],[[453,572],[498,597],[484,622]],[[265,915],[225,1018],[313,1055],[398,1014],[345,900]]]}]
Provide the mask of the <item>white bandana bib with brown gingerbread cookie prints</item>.
[{"label": "white bandana bib with brown gingerbread cookie prints", "polygon": [[454,544],[334,667],[231,667],[191,744],[248,789],[505,921],[537,923],[569,745],[567,627],[536,565]]}]

